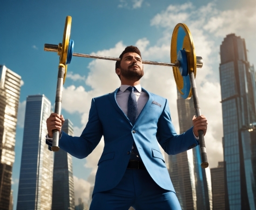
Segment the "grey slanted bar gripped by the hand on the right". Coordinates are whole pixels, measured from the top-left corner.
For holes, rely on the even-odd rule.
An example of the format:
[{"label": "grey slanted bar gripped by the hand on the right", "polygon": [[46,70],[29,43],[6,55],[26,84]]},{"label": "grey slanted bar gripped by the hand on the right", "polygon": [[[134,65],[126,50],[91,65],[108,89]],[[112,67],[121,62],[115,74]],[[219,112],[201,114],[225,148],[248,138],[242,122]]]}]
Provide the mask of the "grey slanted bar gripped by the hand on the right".
[{"label": "grey slanted bar gripped by the hand on the right", "polygon": [[[194,72],[189,72],[189,80],[190,80],[190,84],[191,84],[191,90],[192,90],[193,101],[194,101],[195,117],[198,117],[201,115],[201,112],[200,112],[197,91],[196,91]],[[198,131],[198,138],[199,138],[199,143],[200,143],[200,151],[201,151],[200,153],[201,153],[201,160],[202,160],[201,167],[207,168],[209,166],[209,164],[207,161],[206,147],[205,147],[204,136],[203,136],[202,130]]]}]

